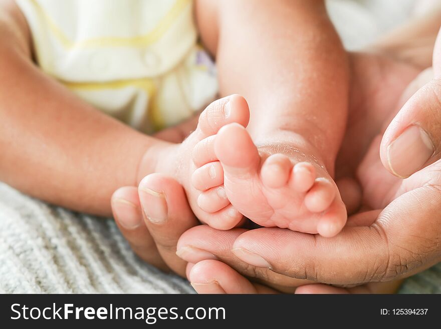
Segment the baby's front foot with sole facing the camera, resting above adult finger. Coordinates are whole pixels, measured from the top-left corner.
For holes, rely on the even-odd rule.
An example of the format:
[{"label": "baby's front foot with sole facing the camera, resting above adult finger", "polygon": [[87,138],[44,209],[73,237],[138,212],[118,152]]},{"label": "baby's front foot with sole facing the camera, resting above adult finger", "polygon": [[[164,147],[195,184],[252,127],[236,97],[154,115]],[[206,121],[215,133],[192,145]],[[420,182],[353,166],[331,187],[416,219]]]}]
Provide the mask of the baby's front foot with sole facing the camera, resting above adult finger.
[{"label": "baby's front foot with sole facing the camera, resting above adult finger", "polygon": [[[193,183],[204,191],[198,199],[206,211],[208,205],[221,205],[217,188],[207,189],[217,186],[211,170],[224,174],[228,200],[259,225],[323,236],[334,236],[345,225],[346,208],[334,181],[323,166],[303,161],[298,149],[286,147],[285,154],[268,151],[268,147],[258,150],[239,124],[224,126],[202,143],[210,156],[198,159],[200,168],[193,174]],[[216,158],[222,167],[209,162]]]}]

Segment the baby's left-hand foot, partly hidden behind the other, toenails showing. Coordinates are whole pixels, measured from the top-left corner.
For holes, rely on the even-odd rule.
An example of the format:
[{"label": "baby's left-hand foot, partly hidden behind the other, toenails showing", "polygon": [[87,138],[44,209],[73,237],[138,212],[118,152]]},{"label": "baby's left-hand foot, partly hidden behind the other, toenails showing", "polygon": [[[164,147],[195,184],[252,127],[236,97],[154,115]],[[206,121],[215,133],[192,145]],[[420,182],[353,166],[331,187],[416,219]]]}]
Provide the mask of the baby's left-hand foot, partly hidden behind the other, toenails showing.
[{"label": "baby's left-hand foot, partly hidden behind the other, toenails showing", "polygon": [[[156,172],[171,173],[182,184],[196,217],[216,229],[233,228],[243,215],[227,198],[222,165],[212,162],[216,160],[214,137],[222,126],[230,123],[246,126],[249,118],[247,102],[239,95],[214,101],[200,114],[195,131],[181,144],[166,148],[157,165]],[[206,165],[197,165],[200,159]],[[193,175],[196,169],[199,174]],[[209,177],[209,181],[201,179],[202,176]],[[201,193],[202,190],[205,192]]]}]

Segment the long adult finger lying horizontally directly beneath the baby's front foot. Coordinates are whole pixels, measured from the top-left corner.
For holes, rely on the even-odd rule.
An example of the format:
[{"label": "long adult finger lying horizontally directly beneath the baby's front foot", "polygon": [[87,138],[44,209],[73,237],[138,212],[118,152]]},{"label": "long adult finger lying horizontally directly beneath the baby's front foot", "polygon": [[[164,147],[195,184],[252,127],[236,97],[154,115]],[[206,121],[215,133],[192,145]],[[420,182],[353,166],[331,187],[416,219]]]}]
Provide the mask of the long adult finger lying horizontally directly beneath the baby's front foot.
[{"label": "long adult finger lying horizontally directly beneath the baby's front foot", "polygon": [[408,276],[441,260],[440,191],[430,185],[407,192],[372,225],[347,226],[333,238],[261,228],[244,232],[233,251],[255,267],[329,284]]}]

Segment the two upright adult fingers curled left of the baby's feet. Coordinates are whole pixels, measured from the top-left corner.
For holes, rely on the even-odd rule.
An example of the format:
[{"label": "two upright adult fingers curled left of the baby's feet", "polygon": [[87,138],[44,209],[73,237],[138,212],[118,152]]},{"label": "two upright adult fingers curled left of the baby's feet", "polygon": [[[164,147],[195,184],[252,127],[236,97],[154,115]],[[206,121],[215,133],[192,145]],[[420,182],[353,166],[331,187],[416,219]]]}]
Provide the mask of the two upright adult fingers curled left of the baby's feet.
[{"label": "two upright adult fingers curled left of the baby's feet", "polygon": [[148,175],[138,188],[115,191],[112,211],[121,233],[141,259],[185,275],[186,262],[176,255],[176,244],[198,221],[178,182],[161,174]]}]

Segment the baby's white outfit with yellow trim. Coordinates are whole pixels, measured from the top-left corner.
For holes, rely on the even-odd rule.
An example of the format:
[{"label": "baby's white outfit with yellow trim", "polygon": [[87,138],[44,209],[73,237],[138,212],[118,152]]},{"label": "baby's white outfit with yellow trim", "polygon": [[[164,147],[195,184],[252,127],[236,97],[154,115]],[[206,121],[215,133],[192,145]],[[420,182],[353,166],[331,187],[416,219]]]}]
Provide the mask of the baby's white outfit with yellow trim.
[{"label": "baby's white outfit with yellow trim", "polygon": [[145,133],[216,95],[191,0],[16,0],[38,65],[80,98]]}]

